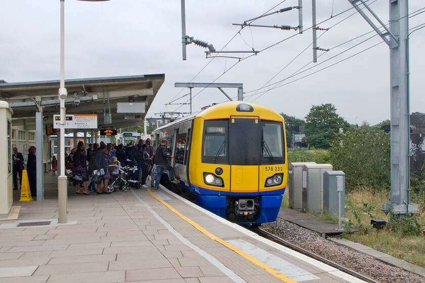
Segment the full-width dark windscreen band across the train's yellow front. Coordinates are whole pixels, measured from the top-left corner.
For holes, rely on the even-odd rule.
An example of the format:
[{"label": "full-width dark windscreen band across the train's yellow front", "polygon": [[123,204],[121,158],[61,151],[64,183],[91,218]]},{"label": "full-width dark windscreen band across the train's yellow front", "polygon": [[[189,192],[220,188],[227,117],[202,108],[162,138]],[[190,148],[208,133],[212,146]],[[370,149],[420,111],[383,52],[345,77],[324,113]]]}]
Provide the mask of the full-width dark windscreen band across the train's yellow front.
[{"label": "full-width dark windscreen band across the train's yellow front", "polygon": [[258,117],[205,120],[202,162],[230,165],[285,163],[282,122]]}]

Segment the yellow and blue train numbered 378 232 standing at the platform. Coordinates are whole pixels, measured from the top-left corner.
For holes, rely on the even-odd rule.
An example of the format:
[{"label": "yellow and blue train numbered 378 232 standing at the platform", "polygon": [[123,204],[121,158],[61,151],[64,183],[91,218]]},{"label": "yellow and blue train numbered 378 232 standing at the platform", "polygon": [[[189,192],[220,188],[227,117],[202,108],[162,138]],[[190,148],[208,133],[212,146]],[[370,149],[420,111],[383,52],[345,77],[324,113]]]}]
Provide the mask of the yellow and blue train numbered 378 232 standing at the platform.
[{"label": "yellow and blue train numbered 378 232 standing at the platform", "polygon": [[276,220],[287,179],[281,115],[226,102],[153,132],[157,144],[164,137],[176,177],[199,206],[237,223]]}]

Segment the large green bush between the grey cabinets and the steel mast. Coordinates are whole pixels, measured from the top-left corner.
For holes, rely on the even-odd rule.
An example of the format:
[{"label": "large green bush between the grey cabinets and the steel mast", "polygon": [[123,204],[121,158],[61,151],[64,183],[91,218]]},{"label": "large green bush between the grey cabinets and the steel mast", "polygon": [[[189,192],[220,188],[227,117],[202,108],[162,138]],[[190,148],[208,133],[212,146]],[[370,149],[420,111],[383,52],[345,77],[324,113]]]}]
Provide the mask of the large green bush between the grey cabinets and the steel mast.
[{"label": "large green bush between the grey cabinets and the steel mast", "polygon": [[334,170],[346,174],[346,188],[390,187],[390,135],[384,131],[350,129],[339,133],[329,149]]}]

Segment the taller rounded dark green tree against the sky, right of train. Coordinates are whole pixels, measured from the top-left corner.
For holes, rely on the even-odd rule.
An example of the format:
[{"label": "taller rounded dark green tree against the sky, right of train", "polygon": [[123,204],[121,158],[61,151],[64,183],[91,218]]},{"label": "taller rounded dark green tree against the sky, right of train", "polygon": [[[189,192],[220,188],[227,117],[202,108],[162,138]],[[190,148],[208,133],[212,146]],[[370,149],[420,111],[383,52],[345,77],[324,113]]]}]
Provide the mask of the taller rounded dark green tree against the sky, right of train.
[{"label": "taller rounded dark green tree against the sky, right of train", "polygon": [[313,106],[306,116],[306,137],[303,143],[309,147],[328,149],[330,141],[339,128],[348,129],[350,124],[336,114],[336,108],[331,104]]}]

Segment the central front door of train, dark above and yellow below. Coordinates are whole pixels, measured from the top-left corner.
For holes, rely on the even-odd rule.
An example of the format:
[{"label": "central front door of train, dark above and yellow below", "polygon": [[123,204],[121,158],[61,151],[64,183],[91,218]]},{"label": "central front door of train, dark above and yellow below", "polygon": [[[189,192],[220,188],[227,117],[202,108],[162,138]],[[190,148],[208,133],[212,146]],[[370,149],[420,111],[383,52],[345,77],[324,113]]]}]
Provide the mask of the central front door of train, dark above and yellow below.
[{"label": "central front door of train, dark above and yellow below", "polygon": [[259,117],[230,117],[231,194],[259,191],[261,132]]}]

